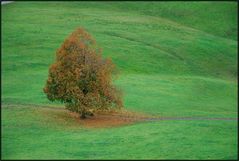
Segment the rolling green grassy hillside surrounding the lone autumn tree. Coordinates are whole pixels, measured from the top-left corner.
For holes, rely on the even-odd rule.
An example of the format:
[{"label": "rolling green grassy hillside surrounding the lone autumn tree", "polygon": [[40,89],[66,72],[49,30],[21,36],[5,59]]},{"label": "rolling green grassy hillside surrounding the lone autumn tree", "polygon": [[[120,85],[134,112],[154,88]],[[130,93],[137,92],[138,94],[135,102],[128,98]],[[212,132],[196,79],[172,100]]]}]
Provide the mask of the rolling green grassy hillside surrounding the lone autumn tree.
[{"label": "rolling green grassy hillside surrounding the lone autumn tree", "polygon": [[[236,159],[236,120],[85,128],[42,88],[84,27],[120,70],[127,110],[237,118],[236,2],[14,2],[2,6],[3,159]],[[11,106],[32,104],[32,106]],[[53,108],[54,108],[53,107]]]}]

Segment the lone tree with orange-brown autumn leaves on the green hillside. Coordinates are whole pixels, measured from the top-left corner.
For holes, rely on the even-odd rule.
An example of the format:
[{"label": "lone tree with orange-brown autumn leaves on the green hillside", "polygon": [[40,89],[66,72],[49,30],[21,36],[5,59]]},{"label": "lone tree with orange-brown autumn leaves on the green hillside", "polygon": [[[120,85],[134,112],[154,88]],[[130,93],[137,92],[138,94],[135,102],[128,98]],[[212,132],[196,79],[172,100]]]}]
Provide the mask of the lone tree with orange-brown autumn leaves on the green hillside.
[{"label": "lone tree with orange-brown autumn leaves on the green hillside", "polygon": [[111,59],[103,59],[95,40],[79,28],[57,50],[43,90],[50,101],[61,101],[86,118],[96,110],[123,106],[121,92],[112,85],[114,72]]}]

